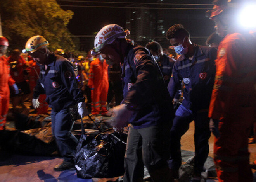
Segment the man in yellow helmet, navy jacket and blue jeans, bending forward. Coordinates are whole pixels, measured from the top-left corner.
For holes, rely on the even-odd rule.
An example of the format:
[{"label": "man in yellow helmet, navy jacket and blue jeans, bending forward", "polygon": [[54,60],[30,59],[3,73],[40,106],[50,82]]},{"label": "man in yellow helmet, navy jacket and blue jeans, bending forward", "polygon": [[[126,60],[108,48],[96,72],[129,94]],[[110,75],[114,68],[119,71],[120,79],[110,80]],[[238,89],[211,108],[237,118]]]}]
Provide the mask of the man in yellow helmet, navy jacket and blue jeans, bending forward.
[{"label": "man in yellow helmet, navy jacket and blue jeans, bending forward", "polygon": [[78,104],[81,117],[87,115],[85,98],[76,84],[73,66],[64,57],[50,53],[48,41],[42,36],[33,36],[26,43],[26,51],[40,64],[40,78],[35,87],[32,104],[39,106],[38,97],[46,94],[46,101],[52,108],[52,134],[64,161],[54,170],[61,171],[74,167],[77,139],[70,130],[74,121],[69,109]]}]

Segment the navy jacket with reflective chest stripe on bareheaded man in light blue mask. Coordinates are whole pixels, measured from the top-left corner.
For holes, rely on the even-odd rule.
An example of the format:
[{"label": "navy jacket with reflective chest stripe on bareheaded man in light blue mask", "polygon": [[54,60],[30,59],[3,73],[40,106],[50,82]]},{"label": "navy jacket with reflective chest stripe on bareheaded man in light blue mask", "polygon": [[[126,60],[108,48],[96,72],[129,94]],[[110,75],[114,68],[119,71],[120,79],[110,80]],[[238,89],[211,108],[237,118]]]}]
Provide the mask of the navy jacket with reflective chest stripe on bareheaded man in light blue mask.
[{"label": "navy jacket with reflective chest stripe on bareheaded man in light blue mask", "polygon": [[185,89],[182,105],[192,111],[209,108],[216,70],[214,54],[216,57],[216,52],[211,51],[209,47],[195,45],[192,60],[182,55],[175,61],[173,75],[168,85],[172,99],[183,80]]}]

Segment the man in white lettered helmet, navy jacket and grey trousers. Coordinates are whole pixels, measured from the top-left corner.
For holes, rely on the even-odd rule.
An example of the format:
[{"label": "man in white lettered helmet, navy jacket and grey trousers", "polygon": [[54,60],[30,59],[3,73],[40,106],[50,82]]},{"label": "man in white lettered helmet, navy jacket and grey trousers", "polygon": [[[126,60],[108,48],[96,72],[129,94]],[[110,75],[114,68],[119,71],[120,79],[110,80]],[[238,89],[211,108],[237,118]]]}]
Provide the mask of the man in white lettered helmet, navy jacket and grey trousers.
[{"label": "man in white lettered helmet, navy jacket and grey trousers", "polygon": [[146,48],[128,43],[126,33],[117,24],[110,24],[98,32],[94,42],[95,52],[122,65],[124,100],[108,114],[114,117],[117,129],[131,124],[124,182],[142,182],[144,165],[154,182],[170,182],[170,143],[166,138],[171,123],[170,96],[153,56]]}]

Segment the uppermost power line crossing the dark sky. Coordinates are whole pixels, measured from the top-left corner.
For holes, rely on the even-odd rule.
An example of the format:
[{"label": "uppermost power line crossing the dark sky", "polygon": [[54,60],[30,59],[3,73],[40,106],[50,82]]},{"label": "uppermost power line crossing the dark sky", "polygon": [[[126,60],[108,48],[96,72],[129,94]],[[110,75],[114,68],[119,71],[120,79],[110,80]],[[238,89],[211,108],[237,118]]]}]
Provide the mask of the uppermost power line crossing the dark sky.
[{"label": "uppermost power line crossing the dark sky", "polygon": [[57,1],[62,1],[62,2],[86,2],[86,3],[111,3],[111,4],[212,6],[212,4],[136,3],[136,2],[133,3],[133,2],[79,1],[79,0],[57,0]]}]

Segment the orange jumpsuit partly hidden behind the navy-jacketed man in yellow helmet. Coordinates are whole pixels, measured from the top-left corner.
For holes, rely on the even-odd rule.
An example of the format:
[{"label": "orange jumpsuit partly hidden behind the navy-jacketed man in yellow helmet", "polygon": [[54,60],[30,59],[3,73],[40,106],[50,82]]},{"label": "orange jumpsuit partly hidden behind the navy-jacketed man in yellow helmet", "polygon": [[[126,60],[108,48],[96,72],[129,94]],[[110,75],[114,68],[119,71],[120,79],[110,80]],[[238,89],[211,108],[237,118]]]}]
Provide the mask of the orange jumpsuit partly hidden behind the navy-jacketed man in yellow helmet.
[{"label": "orange jumpsuit partly hidden behind the navy-jacketed man in yellow helmet", "polygon": [[[34,60],[30,60],[28,63],[29,65],[31,65],[30,71],[29,71],[29,86],[30,86],[31,92],[33,93],[33,89],[36,86],[38,76],[40,75],[40,66],[38,66]],[[36,114],[47,114],[48,104],[45,101],[45,99],[46,99],[45,94],[39,95],[38,101],[40,104],[39,104],[39,107],[36,109]]]}]

